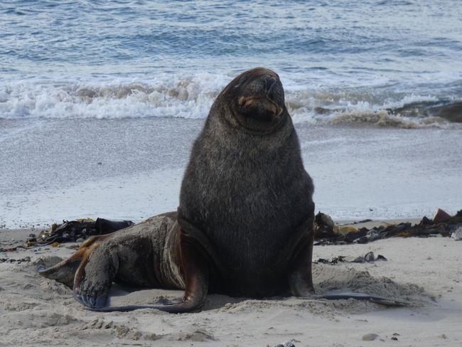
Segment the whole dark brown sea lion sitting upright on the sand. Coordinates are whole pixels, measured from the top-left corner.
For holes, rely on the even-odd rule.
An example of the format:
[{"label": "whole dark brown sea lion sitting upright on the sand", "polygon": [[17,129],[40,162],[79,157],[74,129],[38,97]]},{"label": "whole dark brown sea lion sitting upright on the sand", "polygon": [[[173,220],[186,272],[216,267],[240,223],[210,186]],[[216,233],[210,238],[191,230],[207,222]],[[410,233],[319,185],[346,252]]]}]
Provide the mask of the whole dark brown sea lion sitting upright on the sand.
[{"label": "whole dark brown sea lion sitting upright on the sand", "polygon": [[[312,298],[313,190],[279,76],[254,68],[213,103],[178,213],[92,237],[41,274],[73,282],[75,299],[99,311],[182,313],[200,309],[208,293]],[[113,281],[185,294],[168,305],[104,307]]]}]

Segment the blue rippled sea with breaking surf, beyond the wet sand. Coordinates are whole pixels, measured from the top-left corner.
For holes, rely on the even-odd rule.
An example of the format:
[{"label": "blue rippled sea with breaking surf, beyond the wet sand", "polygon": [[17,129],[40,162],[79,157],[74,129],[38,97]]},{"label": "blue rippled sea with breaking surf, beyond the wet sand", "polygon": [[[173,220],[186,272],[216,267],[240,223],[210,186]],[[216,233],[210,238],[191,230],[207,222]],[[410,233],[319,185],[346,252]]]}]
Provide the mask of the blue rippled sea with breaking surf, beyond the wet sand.
[{"label": "blue rippled sea with breaking surf, beyond the wet sand", "polygon": [[0,118],[204,118],[262,65],[297,122],[447,127],[461,13],[458,0],[1,1]]}]

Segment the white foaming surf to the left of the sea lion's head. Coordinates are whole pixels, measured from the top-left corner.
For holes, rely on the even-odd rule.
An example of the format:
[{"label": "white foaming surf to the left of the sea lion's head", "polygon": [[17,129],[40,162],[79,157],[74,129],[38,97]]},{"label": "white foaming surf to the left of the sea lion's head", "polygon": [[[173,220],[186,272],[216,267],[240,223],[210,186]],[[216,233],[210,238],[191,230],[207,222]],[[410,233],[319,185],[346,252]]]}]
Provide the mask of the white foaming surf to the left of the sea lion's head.
[{"label": "white foaming surf to the left of the sea lion's head", "polygon": [[13,81],[0,89],[0,118],[200,118],[228,79],[200,73],[151,80]]}]

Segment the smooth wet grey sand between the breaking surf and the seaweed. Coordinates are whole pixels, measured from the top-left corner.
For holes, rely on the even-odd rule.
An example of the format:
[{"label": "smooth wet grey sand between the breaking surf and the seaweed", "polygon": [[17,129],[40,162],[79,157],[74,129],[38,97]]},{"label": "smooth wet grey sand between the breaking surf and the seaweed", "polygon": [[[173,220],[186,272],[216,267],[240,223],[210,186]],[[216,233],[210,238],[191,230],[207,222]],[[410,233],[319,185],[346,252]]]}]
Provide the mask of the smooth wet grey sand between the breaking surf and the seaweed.
[{"label": "smooth wet grey sand between the breaking surf and the seaweed", "polygon": [[[175,210],[204,119],[2,120],[0,225]],[[461,208],[462,129],[313,126],[294,119],[316,212],[413,218]]]}]

